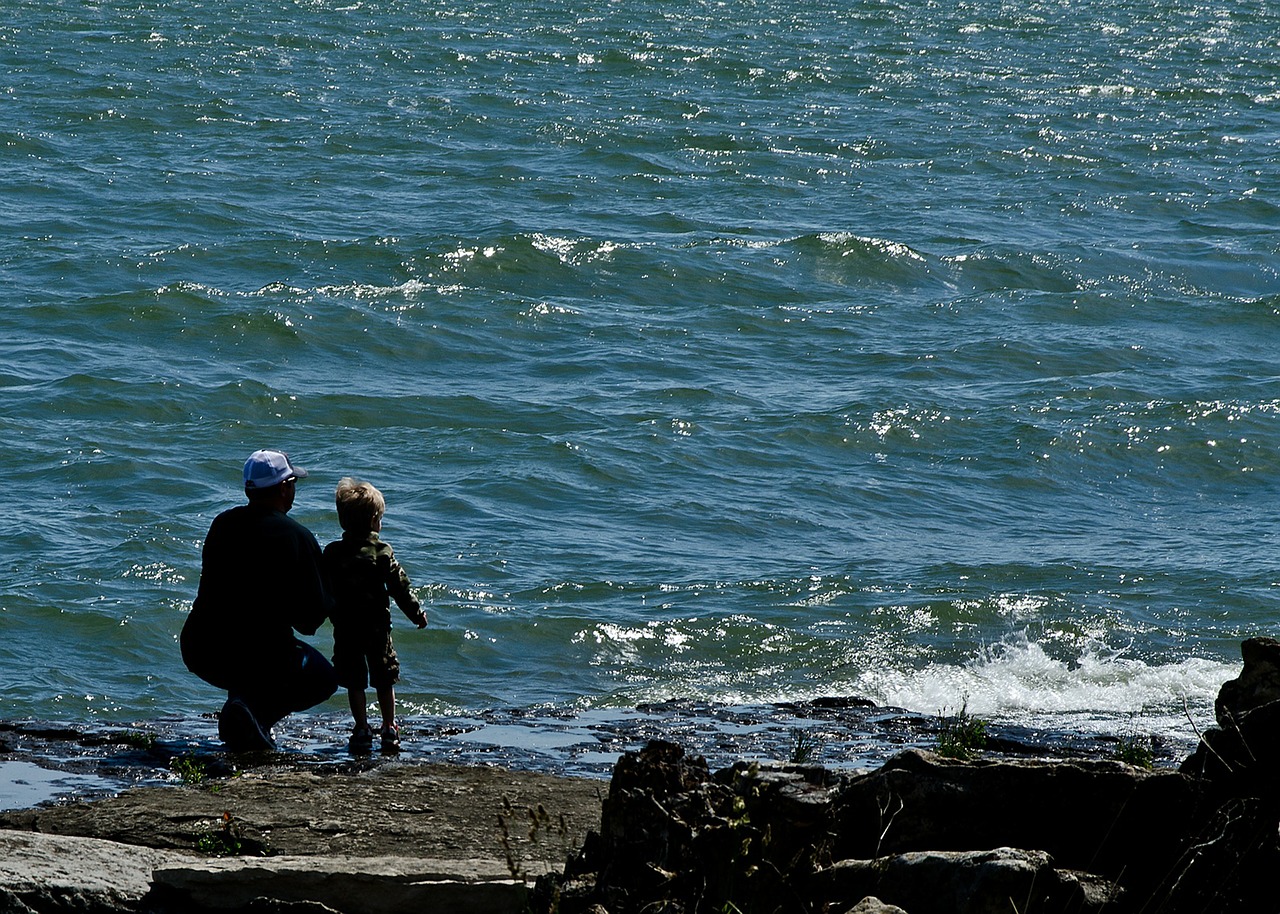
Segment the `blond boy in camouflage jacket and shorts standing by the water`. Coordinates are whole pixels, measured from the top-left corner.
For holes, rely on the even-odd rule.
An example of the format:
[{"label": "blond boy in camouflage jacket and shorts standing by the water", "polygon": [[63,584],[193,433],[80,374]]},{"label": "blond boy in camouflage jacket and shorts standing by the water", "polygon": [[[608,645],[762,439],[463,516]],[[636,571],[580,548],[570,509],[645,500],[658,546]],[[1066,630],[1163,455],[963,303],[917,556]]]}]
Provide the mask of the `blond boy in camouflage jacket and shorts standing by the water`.
[{"label": "blond boy in camouflage jacket and shorts standing by the water", "polygon": [[365,705],[365,689],[372,685],[383,714],[383,751],[394,753],[399,751],[394,687],[399,661],[392,644],[390,599],[419,629],[426,627],[426,613],[390,544],[378,536],[387,511],[383,493],[347,476],[339,480],[334,501],[343,533],[340,540],[325,547],[324,562],[337,603],[332,614],[333,666],[356,718],[351,749],[367,751],[374,745]]}]

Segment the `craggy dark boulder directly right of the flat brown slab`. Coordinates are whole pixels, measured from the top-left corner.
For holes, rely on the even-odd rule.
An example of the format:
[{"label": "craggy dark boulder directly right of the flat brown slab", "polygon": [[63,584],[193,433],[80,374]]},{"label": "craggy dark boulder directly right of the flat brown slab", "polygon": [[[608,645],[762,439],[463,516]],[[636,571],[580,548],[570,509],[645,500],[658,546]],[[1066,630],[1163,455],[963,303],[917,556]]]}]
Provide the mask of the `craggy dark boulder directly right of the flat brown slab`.
[{"label": "craggy dark boulder directly right of the flat brown slab", "polygon": [[653,741],[618,762],[599,833],[544,904],[564,914],[786,910],[796,881],[826,859],[838,782],[806,766],[740,763],[713,774],[703,758]]}]

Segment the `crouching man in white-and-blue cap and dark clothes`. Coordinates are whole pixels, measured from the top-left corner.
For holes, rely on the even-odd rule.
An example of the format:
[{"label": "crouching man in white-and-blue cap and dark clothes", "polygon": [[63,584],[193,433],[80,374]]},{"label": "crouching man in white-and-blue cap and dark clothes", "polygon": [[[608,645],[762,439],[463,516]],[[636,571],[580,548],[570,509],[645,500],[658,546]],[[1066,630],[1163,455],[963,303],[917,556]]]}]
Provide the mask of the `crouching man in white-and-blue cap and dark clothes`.
[{"label": "crouching man in white-and-blue cap and dark clothes", "polygon": [[244,462],[248,504],[218,515],[205,538],[182,659],[227,690],[218,735],[230,751],[274,750],[278,721],[338,689],[329,661],[293,635],[314,635],[333,607],[320,544],[287,516],[306,475],[283,451],[255,451]]}]

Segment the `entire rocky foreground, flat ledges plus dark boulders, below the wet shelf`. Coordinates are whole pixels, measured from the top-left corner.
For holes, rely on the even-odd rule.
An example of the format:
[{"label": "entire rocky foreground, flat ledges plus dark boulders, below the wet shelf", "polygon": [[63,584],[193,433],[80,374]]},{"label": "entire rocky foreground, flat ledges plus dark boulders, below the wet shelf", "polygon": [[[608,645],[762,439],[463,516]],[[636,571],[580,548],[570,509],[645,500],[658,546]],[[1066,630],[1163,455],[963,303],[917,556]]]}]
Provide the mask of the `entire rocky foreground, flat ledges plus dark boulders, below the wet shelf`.
[{"label": "entire rocky foreground, flat ledges plus dark boulders, below the wet shelf", "polygon": [[1263,910],[1280,641],[1243,655],[1178,768],[910,748],[713,769],[652,740],[608,782],[269,763],[0,813],[0,914]]}]

